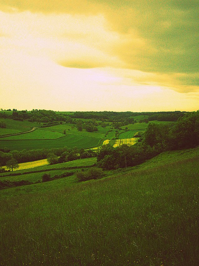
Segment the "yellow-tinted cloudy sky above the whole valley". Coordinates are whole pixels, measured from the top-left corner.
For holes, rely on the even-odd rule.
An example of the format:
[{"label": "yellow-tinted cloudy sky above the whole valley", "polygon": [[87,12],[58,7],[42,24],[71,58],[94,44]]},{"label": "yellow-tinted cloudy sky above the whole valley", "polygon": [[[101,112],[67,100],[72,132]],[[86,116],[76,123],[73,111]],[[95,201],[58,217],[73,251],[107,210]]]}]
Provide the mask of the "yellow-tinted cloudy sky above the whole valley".
[{"label": "yellow-tinted cloudy sky above the whole valley", "polygon": [[0,108],[196,111],[198,12],[198,0],[0,0]]}]

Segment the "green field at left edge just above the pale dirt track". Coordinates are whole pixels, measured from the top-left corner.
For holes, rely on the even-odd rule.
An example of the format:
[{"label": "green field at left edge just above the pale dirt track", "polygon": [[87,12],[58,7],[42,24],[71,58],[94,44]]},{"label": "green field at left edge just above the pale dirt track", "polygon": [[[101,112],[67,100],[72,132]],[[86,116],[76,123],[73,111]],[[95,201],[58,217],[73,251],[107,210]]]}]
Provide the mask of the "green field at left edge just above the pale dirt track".
[{"label": "green field at left edge just above the pale dirt track", "polygon": [[0,118],[1,122],[6,123],[6,128],[0,128],[0,135],[19,133],[31,130],[33,127],[38,126],[35,122],[27,120],[17,121],[10,118]]}]

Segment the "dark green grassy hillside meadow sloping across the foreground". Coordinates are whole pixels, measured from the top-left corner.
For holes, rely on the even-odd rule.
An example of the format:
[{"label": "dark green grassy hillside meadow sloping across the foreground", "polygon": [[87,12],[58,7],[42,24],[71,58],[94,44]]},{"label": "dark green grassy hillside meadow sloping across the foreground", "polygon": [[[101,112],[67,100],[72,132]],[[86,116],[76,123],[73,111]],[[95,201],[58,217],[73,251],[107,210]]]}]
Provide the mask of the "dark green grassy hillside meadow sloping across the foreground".
[{"label": "dark green grassy hillside meadow sloping across the foreground", "polygon": [[196,151],[181,161],[153,160],[153,167],[2,200],[0,265],[198,265]]}]

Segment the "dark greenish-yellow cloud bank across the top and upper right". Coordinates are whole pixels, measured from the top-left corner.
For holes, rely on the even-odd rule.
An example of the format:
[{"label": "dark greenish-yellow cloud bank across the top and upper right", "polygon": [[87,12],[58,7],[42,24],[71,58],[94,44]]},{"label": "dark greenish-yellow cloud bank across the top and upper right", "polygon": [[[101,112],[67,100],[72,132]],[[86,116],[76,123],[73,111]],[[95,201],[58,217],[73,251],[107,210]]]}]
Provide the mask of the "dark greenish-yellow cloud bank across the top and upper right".
[{"label": "dark greenish-yellow cloud bank across the top and upper right", "polygon": [[[66,39],[70,36],[72,40],[76,38],[82,43],[87,40],[86,45],[90,42],[90,46],[95,48],[98,46],[97,48],[107,56],[111,54],[117,57],[120,61],[118,67],[121,67],[123,62],[124,68],[147,72],[195,73],[198,71],[199,6],[197,1],[3,0],[2,4],[4,8],[10,7],[13,10],[46,15],[57,14],[57,18],[61,18],[59,17],[61,14],[67,14],[70,18],[71,15],[83,16],[84,18],[76,16],[76,23],[73,23],[74,19],[71,20],[73,26],[70,27],[69,23],[69,28],[74,32],[66,31]],[[37,20],[39,16],[35,22]],[[52,29],[56,27],[59,34],[64,28],[63,25],[61,24],[60,29],[57,23],[51,26]],[[100,32],[102,25],[103,31]],[[41,30],[42,28],[38,29],[39,32]],[[93,38],[90,38],[91,32]],[[95,32],[100,34],[97,35]],[[53,34],[56,35],[55,31]],[[115,38],[114,42],[113,35],[119,37]],[[76,63],[76,61],[79,60],[75,59],[74,65],[78,66],[79,62]],[[69,62],[70,65],[73,64]],[[81,65],[84,66],[82,63]],[[102,64],[98,66],[100,65]],[[103,64],[103,66],[106,65]]]}]

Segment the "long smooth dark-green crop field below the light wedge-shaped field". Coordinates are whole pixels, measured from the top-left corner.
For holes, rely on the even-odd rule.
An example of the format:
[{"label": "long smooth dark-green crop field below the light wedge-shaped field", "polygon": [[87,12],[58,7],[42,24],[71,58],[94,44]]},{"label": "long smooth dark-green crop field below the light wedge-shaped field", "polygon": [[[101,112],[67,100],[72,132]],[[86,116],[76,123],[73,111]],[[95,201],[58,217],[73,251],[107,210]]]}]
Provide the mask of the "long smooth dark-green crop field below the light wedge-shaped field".
[{"label": "long smooth dark-green crop field below the light wedge-shaped field", "polygon": [[[24,134],[25,135],[25,134]],[[36,150],[36,149],[51,149],[51,148],[60,148],[67,146],[68,148],[77,147],[77,148],[89,148],[92,146],[97,146],[99,144],[100,138],[80,136],[74,134],[67,134],[64,137],[55,140],[1,140],[0,139],[0,148],[7,147],[11,151],[23,149],[26,150]]]}]

